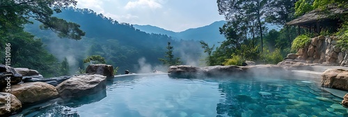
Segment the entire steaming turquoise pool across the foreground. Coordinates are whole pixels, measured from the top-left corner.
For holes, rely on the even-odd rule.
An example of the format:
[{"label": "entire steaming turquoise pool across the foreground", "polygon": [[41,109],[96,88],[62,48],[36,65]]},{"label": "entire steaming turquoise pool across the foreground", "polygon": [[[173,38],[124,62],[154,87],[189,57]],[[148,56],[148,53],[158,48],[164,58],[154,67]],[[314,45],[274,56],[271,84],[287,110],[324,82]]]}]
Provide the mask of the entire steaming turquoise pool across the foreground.
[{"label": "entire steaming turquoise pool across the foreground", "polygon": [[[115,77],[106,89],[77,100],[52,100],[22,116],[348,116],[313,81],[267,77],[173,79]],[[47,102],[49,103],[49,102]]]}]

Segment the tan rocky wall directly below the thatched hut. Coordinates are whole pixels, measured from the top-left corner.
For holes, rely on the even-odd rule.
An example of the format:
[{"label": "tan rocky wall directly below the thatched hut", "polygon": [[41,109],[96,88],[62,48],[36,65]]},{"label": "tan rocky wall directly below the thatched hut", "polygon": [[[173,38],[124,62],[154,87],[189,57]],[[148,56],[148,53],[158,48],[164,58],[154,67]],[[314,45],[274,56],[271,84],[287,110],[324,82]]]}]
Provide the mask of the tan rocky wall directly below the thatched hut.
[{"label": "tan rocky wall directly below the thatched hut", "polygon": [[297,59],[306,63],[320,63],[324,65],[348,66],[348,50],[342,50],[337,44],[335,36],[319,36],[312,38],[310,45],[297,51]]}]

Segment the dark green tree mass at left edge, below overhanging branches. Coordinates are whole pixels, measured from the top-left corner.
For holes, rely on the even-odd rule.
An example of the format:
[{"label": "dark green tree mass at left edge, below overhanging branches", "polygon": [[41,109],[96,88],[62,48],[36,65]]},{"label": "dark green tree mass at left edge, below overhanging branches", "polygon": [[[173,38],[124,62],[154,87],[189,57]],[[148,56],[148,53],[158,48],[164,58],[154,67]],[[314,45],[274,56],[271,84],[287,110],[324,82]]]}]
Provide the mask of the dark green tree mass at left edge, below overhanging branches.
[{"label": "dark green tree mass at left edge, below overhanging branches", "polygon": [[[0,36],[0,38],[4,38]],[[35,39],[33,35],[24,31],[16,31],[8,33],[8,40],[1,39],[1,48],[4,48],[6,43],[10,43],[10,59],[11,66],[15,68],[30,68],[38,70],[44,77],[58,77],[61,75],[60,63],[52,54],[49,54],[43,46],[40,39]],[[4,49],[1,49],[4,50]],[[0,63],[4,64],[5,55],[0,51]]]}]

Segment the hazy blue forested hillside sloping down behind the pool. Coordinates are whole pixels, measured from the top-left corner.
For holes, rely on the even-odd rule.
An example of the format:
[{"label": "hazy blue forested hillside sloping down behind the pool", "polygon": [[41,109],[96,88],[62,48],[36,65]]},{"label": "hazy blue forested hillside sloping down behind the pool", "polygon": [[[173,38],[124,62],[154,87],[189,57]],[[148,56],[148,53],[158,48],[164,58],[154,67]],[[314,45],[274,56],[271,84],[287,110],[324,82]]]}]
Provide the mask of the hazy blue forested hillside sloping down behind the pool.
[{"label": "hazy blue forested hillside sloping down behind the pool", "polygon": [[[39,22],[27,24],[25,31],[41,38],[45,47],[59,62],[66,58],[70,65],[70,74],[78,68],[86,68],[88,63],[83,63],[83,60],[91,55],[101,55],[107,64],[119,67],[119,73],[123,73],[126,69],[138,72],[142,67],[140,65],[144,65],[144,63],[139,64],[139,61],[144,59],[145,61],[141,62],[152,65],[148,69],[155,69],[157,65],[161,65],[158,59],[164,58],[167,42],[172,42],[175,47],[174,55],[182,56],[184,63],[198,60],[202,52],[199,42],[177,41],[166,35],[145,33],[134,29],[131,24],[106,18],[93,10],[67,8],[54,16],[81,25],[86,36],[81,40],[58,38],[52,31],[40,30]],[[30,66],[21,67],[30,68]]]}]

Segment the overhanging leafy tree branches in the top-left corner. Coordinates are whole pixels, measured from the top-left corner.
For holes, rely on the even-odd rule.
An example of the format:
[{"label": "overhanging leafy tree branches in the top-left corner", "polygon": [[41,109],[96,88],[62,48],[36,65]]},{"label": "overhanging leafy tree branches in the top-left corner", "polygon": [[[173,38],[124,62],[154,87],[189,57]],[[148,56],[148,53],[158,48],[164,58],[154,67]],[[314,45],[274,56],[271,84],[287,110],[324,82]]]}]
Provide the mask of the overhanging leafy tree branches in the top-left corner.
[{"label": "overhanging leafy tree branches in the top-left corner", "polygon": [[42,23],[40,29],[50,29],[60,38],[80,40],[85,33],[79,29],[79,24],[52,17],[54,12],[61,13],[61,8],[76,6],[76,3],[75,0],[0,1],[0,34],[6,36],[20,31],[24,24],[33,23],[32,18]]}]

